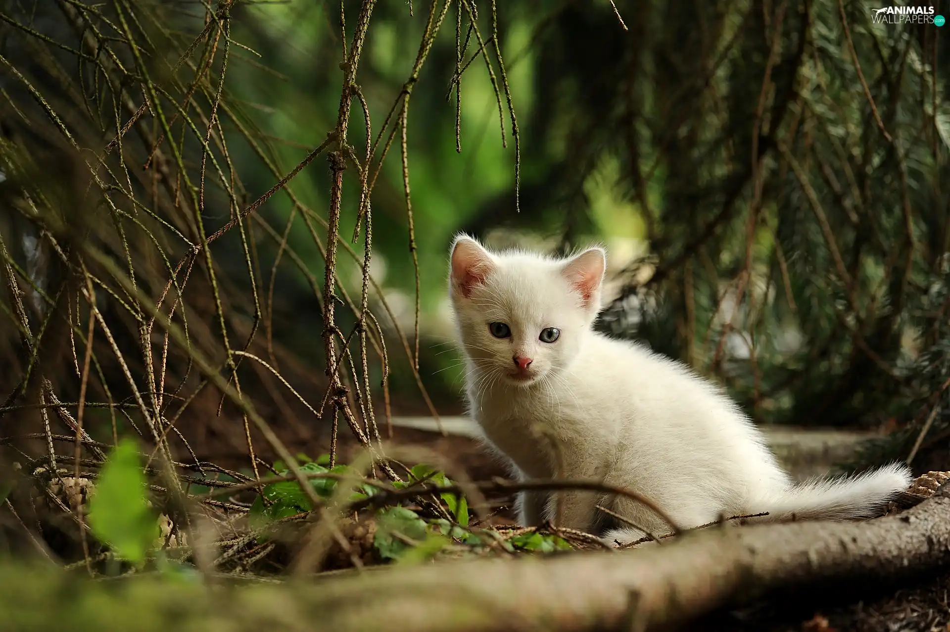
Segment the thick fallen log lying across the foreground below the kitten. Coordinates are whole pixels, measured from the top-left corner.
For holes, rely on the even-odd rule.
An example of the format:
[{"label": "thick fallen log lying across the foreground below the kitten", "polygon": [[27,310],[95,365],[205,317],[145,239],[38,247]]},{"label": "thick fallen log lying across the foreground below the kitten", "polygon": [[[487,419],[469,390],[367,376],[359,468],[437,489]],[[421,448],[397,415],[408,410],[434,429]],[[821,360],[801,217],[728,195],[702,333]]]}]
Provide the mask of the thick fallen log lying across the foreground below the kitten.
[{"label": "thick fallen log lying across the foreground below the kitten", "polygon": [[[669,629],[795,588],[882,584],[944,565],[950,484],[915,508],[864,523],[718,527],[648,549],[397,565],[319,581],[77,586],[59,571],[42,582],[2,572],[0,612],[10,630],[109,632],[133,621],[180,631]],[[52,619],[61,616],[66,628]]]}]

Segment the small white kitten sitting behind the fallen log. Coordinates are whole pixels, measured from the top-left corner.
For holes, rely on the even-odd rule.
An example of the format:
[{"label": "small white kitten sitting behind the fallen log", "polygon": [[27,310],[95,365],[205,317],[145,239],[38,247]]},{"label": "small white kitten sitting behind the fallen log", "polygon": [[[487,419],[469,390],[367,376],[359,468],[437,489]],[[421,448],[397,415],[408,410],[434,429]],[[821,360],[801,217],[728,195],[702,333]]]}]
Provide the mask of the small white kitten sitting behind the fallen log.
[{"label": "small white kitten sitting behind the fallen log", "polygon": [[[632,342],[593,331],[606,255],[492,254],[452,244],[449,294],[466,354],[470,414],[520,478],[597,480],[633,489],[681,527],[769,512],[844,520],[871,515],[910,483],[899,464],[794,485],[748,417],[712,382]],[[606,505],[654,533],[670,528],[627,498],[561,492],[561,527],[641,538]],[[522,493],[523,525],[555,518],[545,493]]]}]

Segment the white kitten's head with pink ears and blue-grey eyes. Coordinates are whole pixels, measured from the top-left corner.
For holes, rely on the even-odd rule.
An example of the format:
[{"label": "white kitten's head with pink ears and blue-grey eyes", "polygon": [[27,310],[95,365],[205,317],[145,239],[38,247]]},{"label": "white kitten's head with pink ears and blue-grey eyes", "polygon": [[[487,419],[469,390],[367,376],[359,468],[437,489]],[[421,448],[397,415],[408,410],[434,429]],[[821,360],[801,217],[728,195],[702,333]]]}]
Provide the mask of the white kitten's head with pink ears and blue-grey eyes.
[{"label": "white kitten's head with pink ears and blue-grey eyes", "polygon": [[565,368],[597,317],[606,265],[601,248],[551,259],[493,254],[459,236],[448,293],[466,353],[483,372],[523,387]]}]

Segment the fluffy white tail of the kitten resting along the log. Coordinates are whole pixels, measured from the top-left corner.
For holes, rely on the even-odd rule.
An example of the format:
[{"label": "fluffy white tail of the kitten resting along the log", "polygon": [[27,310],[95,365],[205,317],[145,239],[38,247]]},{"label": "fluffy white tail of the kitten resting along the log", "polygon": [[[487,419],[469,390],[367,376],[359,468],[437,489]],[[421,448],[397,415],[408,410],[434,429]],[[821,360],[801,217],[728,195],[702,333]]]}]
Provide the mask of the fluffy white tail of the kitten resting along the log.
[{"label": "fluffy white tail of the kitten resting along the log", "polygon": [[815,479],[787,488],[754,505],[768,511],[765,520],[851,520],[875,515],[884,503],[906,489],[913,476],[902,463],[892,463],[858,476]]}]

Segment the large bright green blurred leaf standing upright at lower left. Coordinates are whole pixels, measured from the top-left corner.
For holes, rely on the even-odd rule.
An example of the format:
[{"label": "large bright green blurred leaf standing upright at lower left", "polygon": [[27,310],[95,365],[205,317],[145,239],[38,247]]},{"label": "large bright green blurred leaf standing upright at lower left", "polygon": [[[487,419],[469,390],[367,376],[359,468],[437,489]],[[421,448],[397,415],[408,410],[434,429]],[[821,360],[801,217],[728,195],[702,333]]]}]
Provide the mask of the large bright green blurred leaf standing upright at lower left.
[{"label": "large bright green blurred leaf standing upright at lower left", "polygon": [[123,439],[105,460],[89,499],[89,527],[117,555],[142,565],[159,536],[135,441]]}]

